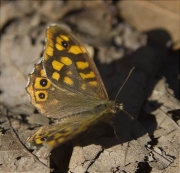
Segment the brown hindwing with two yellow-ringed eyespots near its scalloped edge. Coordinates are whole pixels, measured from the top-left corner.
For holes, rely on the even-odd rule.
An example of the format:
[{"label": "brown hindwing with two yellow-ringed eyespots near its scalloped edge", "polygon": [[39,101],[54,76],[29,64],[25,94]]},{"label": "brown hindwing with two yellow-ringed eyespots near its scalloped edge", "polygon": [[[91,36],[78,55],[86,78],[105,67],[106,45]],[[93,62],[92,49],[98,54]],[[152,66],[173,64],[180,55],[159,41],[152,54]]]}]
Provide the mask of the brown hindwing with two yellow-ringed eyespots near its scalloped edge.
[{"label": "brown hindwing with two yellow-ringed eyespots near its scalloped edge", "polygon": [[90,111],[102,100],[88,95],[61,90],[53,85],[46,77],[42,61],[34,66],[34,71],[29,75],[27,92],[32,104],[45,116],[63,118],[66,116]]}]

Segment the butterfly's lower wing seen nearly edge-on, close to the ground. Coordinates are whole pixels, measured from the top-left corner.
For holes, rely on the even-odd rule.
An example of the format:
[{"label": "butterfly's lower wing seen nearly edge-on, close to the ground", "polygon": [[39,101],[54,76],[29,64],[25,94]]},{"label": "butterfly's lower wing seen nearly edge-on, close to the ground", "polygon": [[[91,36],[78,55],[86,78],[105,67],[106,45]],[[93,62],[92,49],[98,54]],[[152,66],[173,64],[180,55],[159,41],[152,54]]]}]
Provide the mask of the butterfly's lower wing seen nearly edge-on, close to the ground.
[{"label": "butterfly's lower wing seen nearly edge-on, close to the ground", "polygon": [[87,111],[63,118],[58,124],[43,126],[29,138],[30,146],[41,147],[46,145],[54,148],[96,124],[104,113],[106,113],[105,109]]}]

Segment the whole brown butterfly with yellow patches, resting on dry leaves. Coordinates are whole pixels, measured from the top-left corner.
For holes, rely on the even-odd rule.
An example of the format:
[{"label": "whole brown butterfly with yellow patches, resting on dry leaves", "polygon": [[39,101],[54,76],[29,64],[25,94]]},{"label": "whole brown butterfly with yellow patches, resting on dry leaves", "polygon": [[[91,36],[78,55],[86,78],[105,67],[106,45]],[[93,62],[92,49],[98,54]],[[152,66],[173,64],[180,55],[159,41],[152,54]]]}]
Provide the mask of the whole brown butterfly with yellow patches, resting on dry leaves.
[{"label": "whole brown butterfly with yellow patches, resting on dry leaves", "polygon": [[122,104],[109,100],[85,47],[57,25],[46,31],[43,59],[29,75],[26,89],[43,115],[59,120],[31,136],[32,147],[56,147],[122,109]]}]

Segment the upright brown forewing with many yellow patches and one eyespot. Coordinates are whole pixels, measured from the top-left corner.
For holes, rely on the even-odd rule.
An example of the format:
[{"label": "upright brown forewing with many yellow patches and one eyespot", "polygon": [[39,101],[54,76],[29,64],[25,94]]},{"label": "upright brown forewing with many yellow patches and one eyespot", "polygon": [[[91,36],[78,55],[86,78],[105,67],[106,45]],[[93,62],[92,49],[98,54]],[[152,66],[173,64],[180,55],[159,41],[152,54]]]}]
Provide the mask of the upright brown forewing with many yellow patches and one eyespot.
[{"label": "upright brown forewing with many yellow patches and one eyespot", "polygon": [[99,72],[85,47],[67,30],[46,30],[44,68],[48,79],[62,90],[107,99]]}]

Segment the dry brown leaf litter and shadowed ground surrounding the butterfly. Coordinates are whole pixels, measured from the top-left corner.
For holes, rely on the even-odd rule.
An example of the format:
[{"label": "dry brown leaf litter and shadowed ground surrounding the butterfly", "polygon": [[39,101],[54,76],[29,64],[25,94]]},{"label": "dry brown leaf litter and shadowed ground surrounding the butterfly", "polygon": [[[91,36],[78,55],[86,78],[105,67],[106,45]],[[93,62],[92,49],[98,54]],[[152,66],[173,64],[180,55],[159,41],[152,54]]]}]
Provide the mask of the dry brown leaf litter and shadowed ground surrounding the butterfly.
[{"label": "dry brown leaf litter and shadowed ground surrounding the butterfly", "polygon": [[[1,1],[0,172],[178,173],[179,2],[160,2]],[[114,128],[100,122],[52,151],[29,148],[28,137],[57,121],[25,90],[50,24],[87,46],[110,99],[135,67],[118,95],[134,120],[120,112]]]}]

